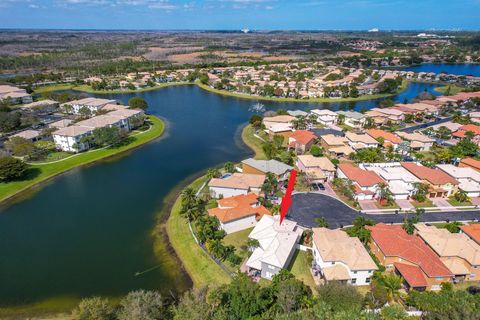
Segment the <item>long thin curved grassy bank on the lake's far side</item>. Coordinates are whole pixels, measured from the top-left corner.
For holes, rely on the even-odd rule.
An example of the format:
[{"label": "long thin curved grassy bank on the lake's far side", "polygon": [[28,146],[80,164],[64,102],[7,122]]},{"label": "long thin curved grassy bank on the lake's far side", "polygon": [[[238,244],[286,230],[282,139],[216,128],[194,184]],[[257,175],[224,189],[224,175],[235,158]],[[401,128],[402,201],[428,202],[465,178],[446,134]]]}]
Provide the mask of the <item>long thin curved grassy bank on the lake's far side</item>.
[{"label": "long thin curved grassy bank on the lake's far side", "polygon": [[371,94],[371,95],[363,95],[358,98],[310,98],[310,99],[295,99],[295,98],[274,98],[274,97],[263,97],[263,96],[257,96],[257,95],[248,95],[248,94],[242,94],[242,93],[236,93],[236,92],[229,92],[226,90],[218,90],[211,88],[208,85],[202,84],[200,82],[195,82],[197,86],[200,88],[210,91],[216,94],[221,94],[224,96],[229,96],[229,97],[235,97],[235,98],[241,98],[241,99],[250,99],[250,100],[261,100],[261,101],[277,101],[277,102],[355,102],[355,101],[365,101],[365,100],[374,100],[374,99],[381,99],[381,98],[387,98],[391,97],[394,95],[397,95],[401,92],[403,92],[409,82],[408,81],[403,81],[402,85],[398,88],[397,92],[390,94],[390,93],[384,93],[384,94]]}]

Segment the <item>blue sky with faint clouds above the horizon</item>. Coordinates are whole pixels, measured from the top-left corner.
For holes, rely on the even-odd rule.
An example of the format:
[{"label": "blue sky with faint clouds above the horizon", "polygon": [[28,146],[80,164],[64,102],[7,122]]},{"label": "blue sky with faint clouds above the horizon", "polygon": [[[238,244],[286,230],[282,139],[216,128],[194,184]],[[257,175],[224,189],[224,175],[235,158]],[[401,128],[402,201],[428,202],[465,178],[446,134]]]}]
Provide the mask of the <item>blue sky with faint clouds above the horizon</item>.
[{"label": "blue sky with faint clouds above the horizon", "polygon": [[480,0],[0,0],[0,28],[480,29]]}]

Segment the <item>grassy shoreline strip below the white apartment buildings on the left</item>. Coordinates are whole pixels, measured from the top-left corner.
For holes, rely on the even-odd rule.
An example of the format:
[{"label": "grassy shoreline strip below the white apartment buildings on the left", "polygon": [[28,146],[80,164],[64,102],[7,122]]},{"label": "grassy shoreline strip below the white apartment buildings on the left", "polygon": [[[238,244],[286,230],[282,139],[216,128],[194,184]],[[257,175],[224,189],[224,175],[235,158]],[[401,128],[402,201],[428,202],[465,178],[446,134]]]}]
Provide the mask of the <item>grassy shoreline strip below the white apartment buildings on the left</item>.
[{"label": "grassy shoreline strip below the white apartment buildings on the left", "polygon": [[[151,128],[145,132],[139,133],[134,136],[141,136],[141,138],[144,138],[144,140],[138,140],[137,138],[126,146],[118,147],[118,149],[114,150],[114,152],[111,152],[112,150],[109,148],[102,148],[92,150],[91,152],[80,153],[78,156],[69,157],[56,163],[31,165],[31,168],[33,168],[34,170],[40,170],[40,173],[37,177],[31,180],[20,180],[8,183],[0,183],[0,205],[3,205],[9,201],[15,201],[15,199],[17,198],[22,198],[23,195],[26,195],[27,191],[32,191],[33,189],[41,187],[43,184],[48,183],[53,178],[61,174],[86,165],[92,165],[94,163],[97,163],[98,161],[122,155],[128,151],[132,151],[145,145],[150,141],[153,141],[163,136],[168,123],[157,116],[149,115],[148,118],[150,119],[150,121],[153,122]],[[146,135],[146,137],[144,137],[143,135]],[[85,159],[81,162],[77,162],[76,160],[78,158]]]}]

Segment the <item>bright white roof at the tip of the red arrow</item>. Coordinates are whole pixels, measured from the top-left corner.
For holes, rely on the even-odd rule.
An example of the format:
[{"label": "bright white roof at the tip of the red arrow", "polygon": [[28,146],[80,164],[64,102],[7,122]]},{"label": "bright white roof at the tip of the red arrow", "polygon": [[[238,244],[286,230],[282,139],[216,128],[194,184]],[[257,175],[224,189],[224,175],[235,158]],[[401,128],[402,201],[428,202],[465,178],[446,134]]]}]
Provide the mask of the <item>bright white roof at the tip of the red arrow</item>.
[{"label": "bright white roof at the tip of the red arrow", "polygon": [[303,230],[297,227],[296,222],[287,219],[280,225],[279,218],[264,215],[248,235],[260,244],[248,259],[248,267],[261,270],[262,262],[277,268],[286,267],[288,257],[295,249]]}]

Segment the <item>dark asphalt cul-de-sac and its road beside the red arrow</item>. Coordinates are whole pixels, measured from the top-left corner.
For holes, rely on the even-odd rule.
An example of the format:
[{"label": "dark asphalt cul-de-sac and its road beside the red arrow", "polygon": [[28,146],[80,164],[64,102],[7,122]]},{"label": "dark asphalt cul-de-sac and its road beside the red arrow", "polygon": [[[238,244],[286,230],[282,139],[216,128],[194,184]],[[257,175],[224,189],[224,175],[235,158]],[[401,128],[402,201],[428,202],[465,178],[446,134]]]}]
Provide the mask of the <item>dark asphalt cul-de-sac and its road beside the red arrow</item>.
[{"label": "dark asphalt cul-de-sac and its road beside the red arrow", "polygon": [[[292,196],[293,203],[287,218],[304,227],[316,227],[315,218],[323,217],[330,228],[341,228],[351,225],[358,216],[370,218],[377,222],[402,223],[404,214],[364,214],[346,206],[343,202],[318,193],[299,193]],[[438,211],[426,212],[422,215],[424,222],[435,221],[474,221],[480,220],[480,210],[475,211]]]}]

